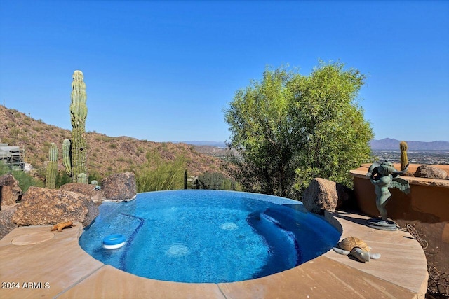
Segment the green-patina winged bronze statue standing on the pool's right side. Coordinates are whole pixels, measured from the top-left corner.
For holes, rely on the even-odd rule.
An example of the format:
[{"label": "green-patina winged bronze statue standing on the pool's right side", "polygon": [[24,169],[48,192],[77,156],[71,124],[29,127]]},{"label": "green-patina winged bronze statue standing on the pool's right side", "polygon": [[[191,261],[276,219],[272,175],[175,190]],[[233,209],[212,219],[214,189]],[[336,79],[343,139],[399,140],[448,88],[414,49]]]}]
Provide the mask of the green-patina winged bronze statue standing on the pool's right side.
[{"label": "green-patina winged bronze statue standing on the pool's right side", "polygon": [[403,193],[408,194],[410,192],[410,185],[405,179],[398,177],[399,175],[406,174],[408,170],[408,164],[406,169],[399,172],[394,169],[391,162],[383,161],[381,163],[374,162],[368,169],[368,174],[371,183],[375,187],[376,193],[376,207],[380,212],[380,219],[368,220],[368,226],[370,228],[376,228],[379,230],[397,230],[397,225],[393,221],[389,221],[387,218],[387,209],[385,206],[391,199],[391,193],[389,188],[398,188]]}]

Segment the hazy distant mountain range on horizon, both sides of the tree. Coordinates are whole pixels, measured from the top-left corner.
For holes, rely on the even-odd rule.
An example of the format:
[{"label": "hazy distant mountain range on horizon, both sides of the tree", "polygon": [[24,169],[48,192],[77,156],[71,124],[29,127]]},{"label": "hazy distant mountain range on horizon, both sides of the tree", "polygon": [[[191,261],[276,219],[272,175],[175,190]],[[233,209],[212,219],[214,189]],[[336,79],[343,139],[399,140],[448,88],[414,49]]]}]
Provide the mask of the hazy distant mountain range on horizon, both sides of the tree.
[{"label": "hazy distant mountain range on horizon, both sides of the tree", "polygon": [[[401,140],[384,138],[380,140],[371,140],[370,146],[373,151],[390,150],[399,151]],[[449,151],[449,141],[406,141],[409,151]],[[220,141],[180,141],[182,144],[192,144],[194,146],[213,146],[225,148],[225,142]]]}]

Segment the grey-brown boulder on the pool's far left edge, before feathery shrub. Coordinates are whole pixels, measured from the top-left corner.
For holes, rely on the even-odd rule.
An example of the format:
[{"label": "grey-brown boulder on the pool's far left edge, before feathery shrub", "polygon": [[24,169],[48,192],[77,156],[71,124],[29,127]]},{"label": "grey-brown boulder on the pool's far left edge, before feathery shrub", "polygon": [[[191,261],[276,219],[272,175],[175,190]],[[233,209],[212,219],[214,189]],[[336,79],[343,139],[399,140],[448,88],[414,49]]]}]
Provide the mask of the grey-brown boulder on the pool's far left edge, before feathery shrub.
[{"label": "grey-brown boulder on the pool's far left edge, before feathery shrub", "polygon": [[119,202],[133,200],[138,192],[133,172],[112,174],[101,181],[101,188],[107,200]]}]

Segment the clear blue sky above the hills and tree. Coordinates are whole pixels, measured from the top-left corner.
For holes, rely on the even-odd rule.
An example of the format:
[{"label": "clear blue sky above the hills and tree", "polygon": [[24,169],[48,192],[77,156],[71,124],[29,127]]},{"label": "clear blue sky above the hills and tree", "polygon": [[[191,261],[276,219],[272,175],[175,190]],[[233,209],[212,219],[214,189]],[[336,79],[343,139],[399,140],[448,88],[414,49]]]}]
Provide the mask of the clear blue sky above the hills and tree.
[{"label": "clear blue sky above the hills and tree", "polygon": [[267,65],[340,60],[375,139],[449,140],[449,1],[8,1],[0,104],[71,130],[150,141],[229,140],[223,109]]}]

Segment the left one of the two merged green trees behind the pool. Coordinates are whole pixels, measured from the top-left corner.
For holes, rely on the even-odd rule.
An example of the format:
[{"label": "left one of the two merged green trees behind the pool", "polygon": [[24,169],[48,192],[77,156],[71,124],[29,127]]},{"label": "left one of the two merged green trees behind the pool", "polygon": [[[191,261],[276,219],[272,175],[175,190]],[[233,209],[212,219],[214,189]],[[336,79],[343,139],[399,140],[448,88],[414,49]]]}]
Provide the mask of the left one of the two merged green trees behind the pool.
[{"label": "left one of the two merged green trees behind the pool", "polygon": [[226,111],[229,147],[237,153],[229,171],[246,190],[287,196],[293,185],[296,141],[289,116],[293,94],[287,88],[293,76],[283,68],[267,69],[261,82],[236,92]]}]

